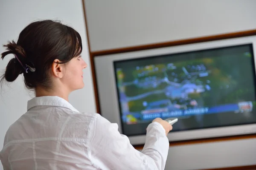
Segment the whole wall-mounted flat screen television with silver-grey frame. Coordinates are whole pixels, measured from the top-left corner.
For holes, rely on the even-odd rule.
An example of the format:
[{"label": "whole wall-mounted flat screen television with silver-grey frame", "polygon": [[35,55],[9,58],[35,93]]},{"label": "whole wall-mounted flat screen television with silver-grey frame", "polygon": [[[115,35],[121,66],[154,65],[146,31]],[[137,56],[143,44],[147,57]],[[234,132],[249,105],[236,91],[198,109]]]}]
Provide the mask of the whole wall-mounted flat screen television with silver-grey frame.
[{"label": "whole wall-mounted flat screen television with silver-grey frame", "polygon": [[101,114],[132,144],[145,142],[146,127],[157,117],[178,118],[170,141],[256,133],[255,41],[96,57]]}]

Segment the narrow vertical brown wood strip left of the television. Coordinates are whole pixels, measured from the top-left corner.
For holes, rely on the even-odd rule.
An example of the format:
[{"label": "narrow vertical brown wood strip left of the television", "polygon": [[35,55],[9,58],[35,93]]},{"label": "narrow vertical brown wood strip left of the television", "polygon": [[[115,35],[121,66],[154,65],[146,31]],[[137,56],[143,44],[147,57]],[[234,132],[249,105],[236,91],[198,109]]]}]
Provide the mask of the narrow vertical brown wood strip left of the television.
[{"label": "narrow vertical brown wood strip left of the television", "polygon": [[87,17],[86,17],[86,11],[85,11],[85,3],[84,0],[82,1],[83,9],[84,9],[84,22],[85,22],[85,28],[86,28],[86,34],[87,34],[87,43],[88,43],[88,49],[89,49],[89,55],[90,55],[90,65],[91,65],[91,72],[93,77],[93,88],[94,88],[94,97],[95,97],[95,104],[96,104],[96,111],[100,114],[100,106],[99,106],[99,93],[97,88],[97,81],[96,81],[96,74],[95,74],[95,65],[93,60],[93,53],[90,50],[90,37],[88,33],[88,27],[87,27]]}]

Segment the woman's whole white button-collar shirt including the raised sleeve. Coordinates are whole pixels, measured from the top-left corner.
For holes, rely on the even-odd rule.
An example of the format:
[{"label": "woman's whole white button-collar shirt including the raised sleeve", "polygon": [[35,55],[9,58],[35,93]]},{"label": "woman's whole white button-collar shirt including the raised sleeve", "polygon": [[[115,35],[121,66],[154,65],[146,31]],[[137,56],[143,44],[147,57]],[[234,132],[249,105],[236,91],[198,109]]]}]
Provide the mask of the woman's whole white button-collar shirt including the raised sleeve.
[{"label": "woman's whole white button-collar shirt including the raised sleeve", "polygon": [[142,152],[115,123],[97,113],[79,113],[57,96],[28,101],[6,133],[0,152],[4,170],[164,170],[169,140],[151,123]]}]

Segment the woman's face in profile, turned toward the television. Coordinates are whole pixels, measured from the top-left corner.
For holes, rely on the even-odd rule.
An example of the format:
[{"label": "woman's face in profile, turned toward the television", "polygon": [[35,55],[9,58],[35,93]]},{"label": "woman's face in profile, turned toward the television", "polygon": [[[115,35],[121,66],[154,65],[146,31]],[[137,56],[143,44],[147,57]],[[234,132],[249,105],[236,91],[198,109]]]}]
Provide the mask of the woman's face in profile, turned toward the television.
[{"label": "woman's face in profile, turned toward the television", "polygon": [[62,81],[67,86],[67,89],[75,91],[84,87],[83,69],[86,67],[87,64],[81,56],[74,57],[66,63]]}]

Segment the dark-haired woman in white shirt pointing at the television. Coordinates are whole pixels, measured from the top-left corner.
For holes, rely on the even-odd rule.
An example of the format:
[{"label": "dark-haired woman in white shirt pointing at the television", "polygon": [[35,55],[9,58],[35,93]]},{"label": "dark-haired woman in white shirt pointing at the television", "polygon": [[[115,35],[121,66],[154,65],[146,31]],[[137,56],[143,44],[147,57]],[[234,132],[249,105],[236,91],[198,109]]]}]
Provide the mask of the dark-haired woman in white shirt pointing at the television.
[{"label": "dark-haired woman in white shirt pointing at the television", "polygon": [[6,170],[163,170],[172,126],[157,118],[148,125],[142,152],[116,124],[99,114],[79,113],[68,102],[84,87],[78,32],[52,20],[37,21],[9,42],[2,59],[13,54],[2,81],[20,74],[35,90],[23,114],[6,133],[0,160]]}]

